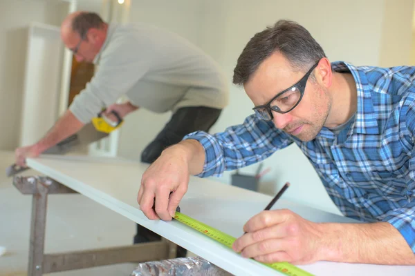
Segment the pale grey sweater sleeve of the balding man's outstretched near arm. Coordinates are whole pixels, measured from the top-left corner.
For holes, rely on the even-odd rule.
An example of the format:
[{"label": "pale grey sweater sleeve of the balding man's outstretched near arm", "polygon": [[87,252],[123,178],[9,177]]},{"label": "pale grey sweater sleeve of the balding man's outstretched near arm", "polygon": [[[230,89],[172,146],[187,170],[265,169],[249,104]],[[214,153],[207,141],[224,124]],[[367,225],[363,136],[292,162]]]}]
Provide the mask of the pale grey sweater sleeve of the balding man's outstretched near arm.
[{"label": "pale grey sweater sleeve of the balding man's outstretched near arm", "polygon": [[149,47],[140,46],[128,36],[112,37],[102,50],[97,72],[75,97],[69,110],[82,123],[88,123],[148,72],[152,55]]}]

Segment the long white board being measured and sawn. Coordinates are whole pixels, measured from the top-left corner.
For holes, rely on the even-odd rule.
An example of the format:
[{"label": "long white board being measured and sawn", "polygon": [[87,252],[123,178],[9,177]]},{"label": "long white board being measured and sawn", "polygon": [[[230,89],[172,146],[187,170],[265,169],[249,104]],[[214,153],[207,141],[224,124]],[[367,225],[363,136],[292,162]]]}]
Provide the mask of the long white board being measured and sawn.
[{"label": "long white board being measured and sawn", "polygon": [[[141,175],[147,165],[124,159],[42,155],[28,159],[28,166],[77,190],[146,228],[187,248],[234,275],[279,275],[252,259],[214,242],[178,221],[150,221],[136,201]],[[218,228],[234,237],[242,235],[245,222],[264,209],[272,197],[228,186],[208,179],[191,177],[181,201],[182,213]],[[356,222],[321,210],[281,199],[273,208],[289,208],[316,222]],[[87,212],[87,210],[86,210]],[[64,214],[62,214],[64,217]],[[414,275],[415,266],[376,266],[317,262],[299,266],[315,275]]]}]

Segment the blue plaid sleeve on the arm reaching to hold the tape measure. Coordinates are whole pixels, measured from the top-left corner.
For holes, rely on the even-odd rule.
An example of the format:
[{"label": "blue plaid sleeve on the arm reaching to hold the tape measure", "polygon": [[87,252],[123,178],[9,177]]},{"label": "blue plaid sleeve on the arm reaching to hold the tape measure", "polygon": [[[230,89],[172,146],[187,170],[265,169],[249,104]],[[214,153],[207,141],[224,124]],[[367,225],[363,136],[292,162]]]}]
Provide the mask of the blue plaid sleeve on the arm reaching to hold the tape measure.
[{"label": "blue plaid sleeve on the arm reaching to hold the tape measure", "polygon": [[293,143],[291,137],[275,128],[272,122],[262,121],[256,115],[215,135],[197,131],[183,139],[195,139],[205,148],[205,165],[199,177],[220,177],[224,170],[255,164]]}]

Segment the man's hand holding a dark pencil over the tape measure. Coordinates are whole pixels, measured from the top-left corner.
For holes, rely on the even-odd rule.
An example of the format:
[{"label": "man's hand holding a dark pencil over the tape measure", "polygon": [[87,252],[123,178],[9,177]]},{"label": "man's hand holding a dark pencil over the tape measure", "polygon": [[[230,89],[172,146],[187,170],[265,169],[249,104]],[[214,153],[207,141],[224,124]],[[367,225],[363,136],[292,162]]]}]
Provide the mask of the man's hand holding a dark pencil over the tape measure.
[{"label": "man's hand holding a dark pencil over the tape measure", "polygon": [[232,246],[243,257],[265,263],[284,260],[291,264],[309,264],[320,260],[319,251],[324,244],[320,224],[291,210],[270,210],[289,185],[286,183],[265,210],[243,226],[245,234]]}]

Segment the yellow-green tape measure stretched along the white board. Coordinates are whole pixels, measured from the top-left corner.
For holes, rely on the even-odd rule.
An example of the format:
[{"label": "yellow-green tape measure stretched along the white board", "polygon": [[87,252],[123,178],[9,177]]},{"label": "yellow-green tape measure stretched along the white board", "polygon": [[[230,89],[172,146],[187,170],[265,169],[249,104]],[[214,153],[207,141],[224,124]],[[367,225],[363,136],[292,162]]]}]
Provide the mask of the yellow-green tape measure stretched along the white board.
[{"label": "yellow-green tape measure stretched along the white board", "polygon": [[[206,224],[203,224],[201,221],[192,219],[192,217],[183,215],[182,213],[176,212],[176,215],[174,215],[174,218],[180,221],[181,223],[186,224],[187,226],[190,226],[194,230],[197,230],[200,233],[208,237],[211,237],[216,242],[220,242],[221,244],[227,246],[228,248],[232,248],[232,244],[236,240],[236,238],[228,234],[225,234],[215,228],[212,228]],[[293,266],[292,264],[289,264],[287,262],[264,264],[264,265],[269,266],[270,268],[273,268],[275,270],[278,270],[281,273],[284,273],[290,276],[313,276],[313,274],[308,273],[302,270],[301,268],[297,268],[297,266]]]}]

